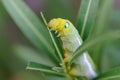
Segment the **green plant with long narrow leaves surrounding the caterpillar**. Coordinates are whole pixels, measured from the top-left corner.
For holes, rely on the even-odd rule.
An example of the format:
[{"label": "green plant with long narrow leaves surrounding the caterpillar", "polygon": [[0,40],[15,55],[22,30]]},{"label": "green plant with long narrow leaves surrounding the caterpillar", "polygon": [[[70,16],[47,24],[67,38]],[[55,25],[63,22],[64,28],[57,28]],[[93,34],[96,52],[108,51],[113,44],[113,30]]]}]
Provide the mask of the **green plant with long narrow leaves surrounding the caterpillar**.
[{"label": "green plant with long narrow leaves surrounding the caterpillar", "polygon": [[[63,72],[52,69],[59,68],[58,66],[61,63],[61,57],[63,58],[63,52],[59,46],[60,43],[47,30],[43,22],[38,19],[22,0],[2,0],[2,2],[23,34],[41,50],[40,57],[38,57],[28,54],[30,52],[35,53],[31,49],[20,45],[16,46],[16,51],[25,53],[26,55],[22,57],[31,61],[28,68],[43,72],[43,76],[48,75],[47,80],[68,80]],[[102,67],[100,62],[102,60],[102,54],[100,50],[102,46],[108,41],[120,38],[118,35],[120,34],[120,30],[109,31],[106,29],[112,3],[113,0],[82,0],[76,28],[82,36],[84,43],[71,57],[69,64],[75,62],[84,51],[89,50],[92,59],[98,67],[98,72],[101,71]],[[50,36],[52,36],[52,40]],[[56,43],[59,45],[56,45]],[[100,73],[96,78],[96,80],[115,79],[120,79],[120,68]],[[76,78],[76,80],[82,79]]]}]

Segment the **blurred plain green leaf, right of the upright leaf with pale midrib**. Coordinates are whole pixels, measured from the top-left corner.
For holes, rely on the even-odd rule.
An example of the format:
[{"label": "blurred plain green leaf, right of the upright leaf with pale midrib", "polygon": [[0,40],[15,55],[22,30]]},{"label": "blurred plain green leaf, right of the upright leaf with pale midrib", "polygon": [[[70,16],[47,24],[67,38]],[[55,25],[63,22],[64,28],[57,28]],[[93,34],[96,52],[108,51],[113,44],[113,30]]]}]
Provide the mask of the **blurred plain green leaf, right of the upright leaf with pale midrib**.
[{"label": "blurred plain green leaf, right of the upright leaf with pale midrib", "polygon": [[[97,10],[97,16],[95,17],[95,22],[93,24],[91,35],[99,35],[104,32],[108,25],[110,12],[112,9],[113,0],[101,0],[99,8]],[[90,36],[91,36],[90,35]]]}]

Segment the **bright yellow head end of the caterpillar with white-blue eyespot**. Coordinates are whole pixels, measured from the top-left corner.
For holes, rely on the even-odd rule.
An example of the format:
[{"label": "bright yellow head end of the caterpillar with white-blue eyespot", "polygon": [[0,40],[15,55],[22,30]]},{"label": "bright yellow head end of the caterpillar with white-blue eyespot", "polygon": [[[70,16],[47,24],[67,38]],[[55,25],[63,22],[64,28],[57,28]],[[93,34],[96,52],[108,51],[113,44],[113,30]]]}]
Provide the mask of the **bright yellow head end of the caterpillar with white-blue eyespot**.
[{"label": "bright yellow head end of the caterpillar with white-blue eyespot", "polygon": [[51,30],[58,32],[60,36],[64,36],[70,31],[72,23],[62,18],[56,18],[50,20],[48,27]]}]

